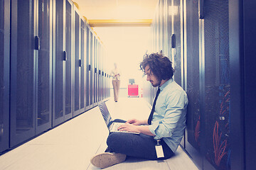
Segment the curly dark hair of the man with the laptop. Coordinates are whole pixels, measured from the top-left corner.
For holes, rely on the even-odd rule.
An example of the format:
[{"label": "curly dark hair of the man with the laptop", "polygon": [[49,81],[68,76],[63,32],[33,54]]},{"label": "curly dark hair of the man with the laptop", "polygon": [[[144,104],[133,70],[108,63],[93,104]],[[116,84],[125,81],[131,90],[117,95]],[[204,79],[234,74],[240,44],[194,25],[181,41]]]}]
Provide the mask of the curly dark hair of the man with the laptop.
[{"label": "curly dark hair of the man with the laptop", "polygon": [[152,53],[144,55],[139,67],[142,72],[145,72],[145,67],[149,65],[151,72],[161,81],[162,79],[171,79],[174,76],[174,69],[171,64],[172,62],[168,57],[164,57],[161,53]]}]

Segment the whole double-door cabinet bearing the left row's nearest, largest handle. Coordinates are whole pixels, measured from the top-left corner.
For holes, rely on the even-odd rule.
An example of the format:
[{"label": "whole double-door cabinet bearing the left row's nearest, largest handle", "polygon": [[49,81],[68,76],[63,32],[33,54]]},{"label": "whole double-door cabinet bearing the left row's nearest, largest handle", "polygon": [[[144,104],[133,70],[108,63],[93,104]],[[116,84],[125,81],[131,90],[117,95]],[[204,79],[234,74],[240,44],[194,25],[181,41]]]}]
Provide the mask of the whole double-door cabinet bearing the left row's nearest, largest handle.
[{"label": "whole double-door cabinet bearing the left row's nearest, largest handle", "polygon": [[11,147],[51,127],[50,1],[11,1]]}]

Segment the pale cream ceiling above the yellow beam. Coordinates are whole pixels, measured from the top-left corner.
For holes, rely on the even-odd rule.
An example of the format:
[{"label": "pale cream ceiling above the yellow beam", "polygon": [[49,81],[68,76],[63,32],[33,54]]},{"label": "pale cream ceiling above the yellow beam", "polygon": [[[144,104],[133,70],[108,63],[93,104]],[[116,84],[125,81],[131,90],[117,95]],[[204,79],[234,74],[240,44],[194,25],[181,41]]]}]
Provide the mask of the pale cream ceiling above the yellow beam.
[{"label": "pale cream ceiling above the yellow beam", "polygon": [[88,20],[153,19],[159,0],[73,0]]}]

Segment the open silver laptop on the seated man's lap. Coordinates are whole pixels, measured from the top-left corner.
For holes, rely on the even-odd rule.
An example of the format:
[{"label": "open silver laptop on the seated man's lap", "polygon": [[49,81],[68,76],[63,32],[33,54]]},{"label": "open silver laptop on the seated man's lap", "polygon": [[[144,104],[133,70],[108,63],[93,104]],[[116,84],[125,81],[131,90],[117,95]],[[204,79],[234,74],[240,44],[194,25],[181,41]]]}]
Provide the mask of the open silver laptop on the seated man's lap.
[{"label": "open silver laptop on the seated man's lap", "polygon": [[139,132],[128,132],[128,131],[117,130],[117,128],[119,128],[119,126],[123,125],[124,123],[116,123],[112,120],[110,112],[107,109],[105,101],[102,101],[101,103],[99,103],[98,106],[99,106],[100,112],[102,113],[102,116],[105,120],[107,128],[110,132],[126,132],[126,133],[139,134]]}]

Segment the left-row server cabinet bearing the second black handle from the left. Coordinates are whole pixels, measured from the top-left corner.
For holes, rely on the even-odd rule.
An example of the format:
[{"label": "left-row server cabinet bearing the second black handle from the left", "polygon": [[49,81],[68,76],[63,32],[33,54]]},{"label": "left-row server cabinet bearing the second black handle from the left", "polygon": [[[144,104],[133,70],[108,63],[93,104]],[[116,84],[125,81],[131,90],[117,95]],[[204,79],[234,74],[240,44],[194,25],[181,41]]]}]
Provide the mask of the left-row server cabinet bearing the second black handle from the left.
[{"label": "left-row server cabinet bearing the second black handle from the left", "polygon": [[73,117],[72,10],[68,0],[53,3],[53,126]]}]

